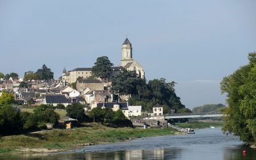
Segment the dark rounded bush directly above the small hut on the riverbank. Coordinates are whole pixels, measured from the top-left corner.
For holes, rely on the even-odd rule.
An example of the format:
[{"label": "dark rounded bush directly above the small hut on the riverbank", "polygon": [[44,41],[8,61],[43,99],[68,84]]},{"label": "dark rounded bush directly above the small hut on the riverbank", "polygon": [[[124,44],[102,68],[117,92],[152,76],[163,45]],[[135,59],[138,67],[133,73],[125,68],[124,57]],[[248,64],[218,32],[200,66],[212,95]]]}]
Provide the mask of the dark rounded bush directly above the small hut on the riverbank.
[{"label": "dark rounded bush directly above the small hut on the riverbank", "polygon": [[80,122],[86,120],[84,105],[81,103],[72,103],[66,107],[67,116],[73,119],[77,119]]}]

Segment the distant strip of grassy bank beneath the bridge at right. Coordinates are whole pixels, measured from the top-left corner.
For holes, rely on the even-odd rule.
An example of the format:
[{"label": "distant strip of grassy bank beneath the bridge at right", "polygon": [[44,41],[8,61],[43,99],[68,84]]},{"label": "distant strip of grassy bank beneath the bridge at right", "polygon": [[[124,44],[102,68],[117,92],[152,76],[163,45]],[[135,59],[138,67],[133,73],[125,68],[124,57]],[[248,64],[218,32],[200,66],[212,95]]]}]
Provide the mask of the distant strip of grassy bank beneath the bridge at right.
[{"label": "distant strip of grassy bank beneath the bridge at right", "polygon": [[222,127],[223,121],[197,121],[188,123],[176,123],[175,125],[183,128],[204,129],[209,128],[210,126]]}]

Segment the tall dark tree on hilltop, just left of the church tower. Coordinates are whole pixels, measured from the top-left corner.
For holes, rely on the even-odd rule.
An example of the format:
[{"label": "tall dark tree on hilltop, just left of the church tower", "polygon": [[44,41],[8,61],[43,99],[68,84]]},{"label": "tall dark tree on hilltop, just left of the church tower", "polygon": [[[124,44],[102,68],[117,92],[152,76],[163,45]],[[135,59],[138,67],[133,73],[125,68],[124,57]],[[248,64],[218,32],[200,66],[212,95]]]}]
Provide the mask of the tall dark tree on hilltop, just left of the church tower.
[{"label": "tall dark tree on hilltop, just left of the church tower", "polygon": [[92,68],[94,78],[109,79],[112,74],[111,66],[113,65],[107,56],[98,57]]}]

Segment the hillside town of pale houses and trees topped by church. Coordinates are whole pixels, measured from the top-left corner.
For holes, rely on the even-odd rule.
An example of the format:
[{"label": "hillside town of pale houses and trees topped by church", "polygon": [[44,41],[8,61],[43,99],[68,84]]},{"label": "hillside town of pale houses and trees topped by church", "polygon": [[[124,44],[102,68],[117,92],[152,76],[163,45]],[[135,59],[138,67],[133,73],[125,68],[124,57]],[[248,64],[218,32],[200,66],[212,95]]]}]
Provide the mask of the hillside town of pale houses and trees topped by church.
[{"label": "hillside town of pale houses and trees topped by church", "polygon": [[[25,72],[24,78],[16,73],[0,74],[0,95],[4,90],[13,94],[17,105],[62,106],[60,109],[65,109],[79,103],[85,113],[101,108],[120,110],[126,118],[155,116],[147,122],[152,126],[167,124],[163,114],[190,112],[176,96],[174,85],[175,82],[165,82],[163,78],[146,83],[144,68],[134,60],[128,38],[122,44],[119,66],[103,56],[97,58],[91,68],[68,71],[64,68],[59,79],[54,79],[46,65],[35,72]],[[67,119],[77,120],[66,117],[64,121],[69,122]],[[141,122],[141,119],[135,118],[134,122]]]}]

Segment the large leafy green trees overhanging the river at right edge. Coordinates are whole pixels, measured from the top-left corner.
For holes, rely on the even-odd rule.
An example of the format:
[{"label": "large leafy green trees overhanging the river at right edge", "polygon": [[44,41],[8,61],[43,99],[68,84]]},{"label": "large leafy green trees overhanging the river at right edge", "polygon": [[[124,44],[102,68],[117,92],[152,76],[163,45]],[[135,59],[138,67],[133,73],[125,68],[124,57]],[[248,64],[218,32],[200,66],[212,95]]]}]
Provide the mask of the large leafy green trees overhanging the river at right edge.
[{"label": "large leafy green trees overhanging the river at right edge", "polygon": [[223,131],[250,143],[256,140],[256,52],[250,53],[248,59],[248,65],[223,78],[220,88],[226,92],[229,106],[225,109]]}]

